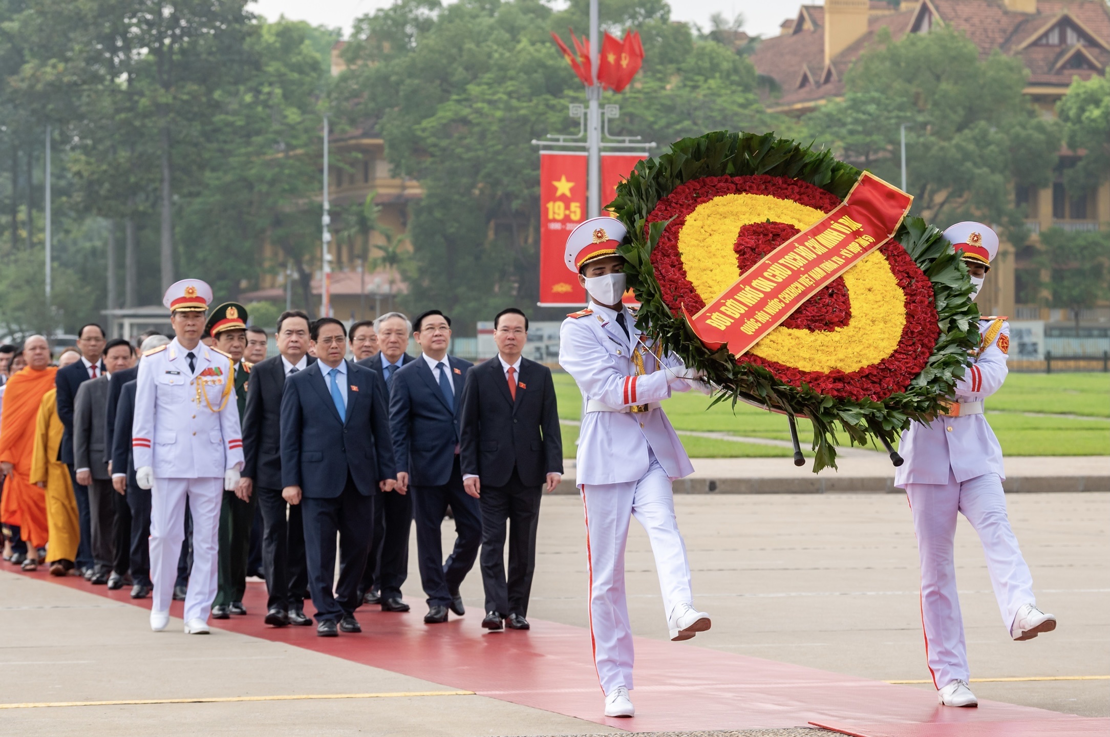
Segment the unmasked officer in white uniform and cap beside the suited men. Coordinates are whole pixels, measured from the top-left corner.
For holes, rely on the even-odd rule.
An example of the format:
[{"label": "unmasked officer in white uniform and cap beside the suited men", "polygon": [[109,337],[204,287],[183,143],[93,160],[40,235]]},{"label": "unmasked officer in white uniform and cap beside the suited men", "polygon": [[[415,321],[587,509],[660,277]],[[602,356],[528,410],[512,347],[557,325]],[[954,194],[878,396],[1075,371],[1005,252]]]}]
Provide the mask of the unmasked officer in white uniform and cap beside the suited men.
[{"label": "unmasked officer in white uniform and cap beside the suited men", "polygon": [[176,337],[143,355],[135,385],[132,450],[135,479],[151,489],[150,626],[165,629],[184,539],[185,499],[193,517],[193,567],[185,634],[206,634],[216,592],[220,503],[239,483],[243,440],[231,360],[203,345],[211,287],[186,279],[165,292]]}]

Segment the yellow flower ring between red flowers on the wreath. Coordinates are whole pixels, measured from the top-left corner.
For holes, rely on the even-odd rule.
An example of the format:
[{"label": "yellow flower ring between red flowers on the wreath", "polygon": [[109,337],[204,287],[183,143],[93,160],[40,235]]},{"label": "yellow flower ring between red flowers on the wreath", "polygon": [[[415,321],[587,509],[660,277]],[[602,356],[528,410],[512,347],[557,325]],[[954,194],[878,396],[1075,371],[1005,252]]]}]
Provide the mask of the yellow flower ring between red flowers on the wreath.
[{"label": "yellow flower ring between red flowers on the wreath", "polygon": [[[805,230],[824,216],[816,208],[767,194],[723,194],[703,202],[686,216],[678,233],[686,277],[708,303],[739,276],[733,246],[741,228],[770,221]],[[859,371],[894,353],[906,326],[906,297],[886,256],[872,251],[842,279],[851,304],[847,325],[833,331],[779,326],[749,353],[823,373]]]}]

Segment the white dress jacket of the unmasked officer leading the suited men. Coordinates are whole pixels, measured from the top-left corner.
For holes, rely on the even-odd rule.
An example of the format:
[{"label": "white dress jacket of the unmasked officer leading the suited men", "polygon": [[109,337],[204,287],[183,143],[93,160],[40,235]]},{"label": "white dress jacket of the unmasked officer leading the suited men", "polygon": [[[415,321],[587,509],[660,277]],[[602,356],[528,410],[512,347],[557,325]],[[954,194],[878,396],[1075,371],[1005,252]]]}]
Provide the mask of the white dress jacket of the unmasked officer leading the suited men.
[{"label": "white dress jacket of the unmasked officer leading the suited men", "polygon": [[193,349],[196,370],[190,372],[186,353],[174,339],[139,362],[135,468],[152,466],[158,478],[223,478],[229,468],[243,467],[234,371],[228,356],[200,343]]}]

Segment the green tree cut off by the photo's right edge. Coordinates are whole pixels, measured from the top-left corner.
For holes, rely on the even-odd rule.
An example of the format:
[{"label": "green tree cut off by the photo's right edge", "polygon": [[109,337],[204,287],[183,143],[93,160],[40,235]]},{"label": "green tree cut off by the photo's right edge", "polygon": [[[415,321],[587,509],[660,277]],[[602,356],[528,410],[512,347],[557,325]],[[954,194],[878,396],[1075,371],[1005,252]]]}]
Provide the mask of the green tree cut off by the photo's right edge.
[{"label": "green tree cut off by the photo's right edge", "polygon": [[1072,79],[1056,110],[1068,148],[1083,154],[1064,171],[1064,184],[1074,192],[1097,188],[1110,176],[1110,80],[1098,74],[1086,82]]}]

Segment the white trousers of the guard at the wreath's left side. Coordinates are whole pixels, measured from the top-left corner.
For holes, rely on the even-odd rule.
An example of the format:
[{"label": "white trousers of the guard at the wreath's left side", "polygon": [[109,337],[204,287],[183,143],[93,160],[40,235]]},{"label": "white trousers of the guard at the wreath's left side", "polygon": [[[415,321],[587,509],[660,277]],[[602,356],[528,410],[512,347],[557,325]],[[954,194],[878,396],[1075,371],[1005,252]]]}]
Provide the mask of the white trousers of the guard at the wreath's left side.
[{"label": "white trousers of the guard at the wreath's left side", "polygon": [[[616,460],[614,460],[616,461]],[[664,615],[693,602],[686,544],[675,519],[670,478],[652,456],[639,481],[583,484],[589,559],[589,633],[602,689],[633,688],[632,624],[625,599],[624,555],[632,517],[644,526],[663,592]]]}]

